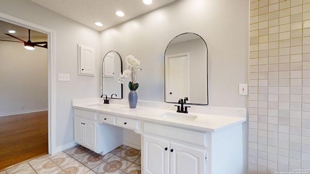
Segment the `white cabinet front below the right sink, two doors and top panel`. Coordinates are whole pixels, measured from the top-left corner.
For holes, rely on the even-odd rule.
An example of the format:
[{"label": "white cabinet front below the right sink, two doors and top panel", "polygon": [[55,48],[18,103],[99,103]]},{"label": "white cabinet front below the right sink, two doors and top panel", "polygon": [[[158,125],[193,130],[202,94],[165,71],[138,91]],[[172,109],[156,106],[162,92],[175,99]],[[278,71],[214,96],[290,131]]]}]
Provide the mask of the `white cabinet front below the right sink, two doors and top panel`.
[{"label": "white cabinet front below the right sink, two doors and top panel", "polygon": [[143,123],[143,174],[205,174],[206,133]]}]

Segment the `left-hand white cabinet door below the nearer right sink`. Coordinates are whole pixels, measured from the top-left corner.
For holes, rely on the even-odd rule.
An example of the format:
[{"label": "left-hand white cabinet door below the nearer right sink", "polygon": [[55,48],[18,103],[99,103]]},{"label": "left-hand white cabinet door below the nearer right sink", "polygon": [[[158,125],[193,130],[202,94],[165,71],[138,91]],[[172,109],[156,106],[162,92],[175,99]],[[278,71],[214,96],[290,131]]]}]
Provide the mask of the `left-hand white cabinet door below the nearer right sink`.
[{"label": "left-hand white cabinet door below the nearer right sink", "polygon": [[169,141],[143,135],[143,174],[169,174]]}]

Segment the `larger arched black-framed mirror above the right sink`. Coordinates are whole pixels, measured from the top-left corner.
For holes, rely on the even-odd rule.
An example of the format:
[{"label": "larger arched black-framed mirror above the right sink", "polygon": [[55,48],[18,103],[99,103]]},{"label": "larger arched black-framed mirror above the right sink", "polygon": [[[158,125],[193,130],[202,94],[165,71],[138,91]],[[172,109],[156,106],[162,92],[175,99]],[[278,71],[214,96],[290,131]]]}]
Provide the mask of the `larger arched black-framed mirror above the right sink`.
[{"label": "larger arched black-framed mirror above the right sink", "polygon": [[165,102],[208,104],[208,49],[201,36],[183,33],[165,51]]}]

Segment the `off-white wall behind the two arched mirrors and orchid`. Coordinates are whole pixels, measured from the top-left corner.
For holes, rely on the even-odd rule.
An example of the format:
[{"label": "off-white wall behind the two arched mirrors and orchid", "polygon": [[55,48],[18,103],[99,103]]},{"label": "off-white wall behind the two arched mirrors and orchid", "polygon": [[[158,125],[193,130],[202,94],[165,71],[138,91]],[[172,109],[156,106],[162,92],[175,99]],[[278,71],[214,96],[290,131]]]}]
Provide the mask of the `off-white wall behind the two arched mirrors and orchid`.
[{"label": "off-white wall behind the two arched mirrors and orchid", "polygon": [[142,68],[139,100],[164,102],[164,52],[184,32],[196,33],[207,43],[209,105],[246,108],[248,98],[238,95],[238,84],[248,83],[248,0],[176,1],[102,31],[100,59],[110,50],[123,59],[135,56]]}]

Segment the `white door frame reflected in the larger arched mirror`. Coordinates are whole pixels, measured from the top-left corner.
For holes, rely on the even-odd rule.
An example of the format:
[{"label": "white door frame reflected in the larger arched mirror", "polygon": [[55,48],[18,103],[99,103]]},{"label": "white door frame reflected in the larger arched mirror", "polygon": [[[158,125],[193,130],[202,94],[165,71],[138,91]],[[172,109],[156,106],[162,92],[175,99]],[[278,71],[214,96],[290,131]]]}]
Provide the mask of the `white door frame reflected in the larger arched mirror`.
[{"label": "white door frame reflected in the larger arched mirror", "polygon": [[[180,54],[173,54],[173,55],[168,55],[166,56],[165,58],[165,102],[166,102],[166,99],[168,99],[168,89],[169,89],[169,86],[170,86],[170,75],[169,75],[169,58],[177,58],[177,57],[187,57],[187,96],[184,96],[184,97],[187,97],[188,100],[190,99],[189,95],[190,95],[190,81],[189,81],[189,75],[190,75],[190,69],[189,69],[189,53],[180,53]],[[171,101],[168,101],[168,102],[171,102]],[[177,101],[175,101],[177,102]],[[189,102],[189,101],[188,101]]]}]

